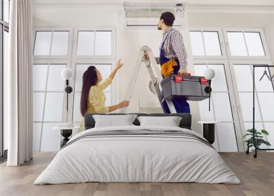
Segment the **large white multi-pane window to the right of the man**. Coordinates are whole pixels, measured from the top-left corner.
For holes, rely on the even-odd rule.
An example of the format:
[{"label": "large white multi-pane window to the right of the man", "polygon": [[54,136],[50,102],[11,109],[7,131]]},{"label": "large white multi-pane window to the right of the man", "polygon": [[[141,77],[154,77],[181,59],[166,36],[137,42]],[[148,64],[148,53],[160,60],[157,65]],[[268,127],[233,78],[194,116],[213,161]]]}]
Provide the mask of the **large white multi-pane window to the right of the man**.
[{"label": "large white multi-pane window to the right of the man", "polygon": [[[201,120],[219,121],[216,142],[219,151],[243,151],[242,135],[252,125],[252,64],[271,64],[262,29],[192,29],[190,42],[195,74],[209,67],[212,80],[212,111],[208,100],[199,102]],[[256,69],[256,127],[270,131],[274,144],[273,84]],[[266,70],[269,73],[269,70]],[[273,98],[271,98],[273,97]],[[272,105],[271,105],[272,104]]]}]

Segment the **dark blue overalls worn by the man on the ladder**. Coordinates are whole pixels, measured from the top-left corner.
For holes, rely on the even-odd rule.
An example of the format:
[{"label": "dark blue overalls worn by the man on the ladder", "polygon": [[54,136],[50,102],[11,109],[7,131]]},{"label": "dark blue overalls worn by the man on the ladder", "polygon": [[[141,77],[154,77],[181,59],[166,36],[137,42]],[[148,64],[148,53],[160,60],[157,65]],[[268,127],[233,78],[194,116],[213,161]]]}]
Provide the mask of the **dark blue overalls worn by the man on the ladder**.
[{"label": "dark blue overalls worn by the man on the ladder", "polygon": [[[168,35],[166,36],[166,38],[167,37],[168,37]],[[164,39],[164,42],[166,41],[166,38]],[[169,58],[166,58],[166,56],[164,56],[164,49],[163,49],[164,42],[162,42],[162,46],[160,47],[160,64],[161,64],[161,66],[162,66],[162,64],[164,64],[165,62],[170,60]],[[177,66],[173,66],[173,74],[177,74],[180,69],[179,60],[176,58],[175,61],[177,62]],[[164,76],[162,75],[162,77],[164,77]],[[177,113],[190,113],[190,107],[189,107],[188,102],[186,101],[186,98],[184,98],[184,97],[174,98],[172,101],[173,101],[173,105],[174,105]],[[164,113],[166,113],[166,114],[171,113],[166,101],[164,101],[162,103],[162,106],[164,108]]]}]

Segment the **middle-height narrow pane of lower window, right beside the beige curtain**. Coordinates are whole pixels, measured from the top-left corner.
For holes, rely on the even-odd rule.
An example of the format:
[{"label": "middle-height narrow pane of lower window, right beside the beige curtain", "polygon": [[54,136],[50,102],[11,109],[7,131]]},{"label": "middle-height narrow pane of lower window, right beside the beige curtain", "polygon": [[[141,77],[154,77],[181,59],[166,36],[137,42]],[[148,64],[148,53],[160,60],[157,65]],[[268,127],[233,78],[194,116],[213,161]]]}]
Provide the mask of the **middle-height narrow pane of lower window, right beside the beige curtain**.
[{"label": "middle-height narrow pane of lower window, right beside the beige curtain", "polygon": [[34,121],[42,121],[45,93],[34,93]]}]

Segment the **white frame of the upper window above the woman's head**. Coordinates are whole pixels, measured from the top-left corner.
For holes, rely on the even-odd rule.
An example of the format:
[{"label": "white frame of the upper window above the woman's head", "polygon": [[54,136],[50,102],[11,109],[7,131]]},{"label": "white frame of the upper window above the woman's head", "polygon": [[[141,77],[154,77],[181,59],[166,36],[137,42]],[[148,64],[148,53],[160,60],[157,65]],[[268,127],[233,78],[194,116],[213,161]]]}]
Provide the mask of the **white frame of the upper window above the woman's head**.
[{"label": "white frame of the upper window above the woman's head", "polygon": [[[112,32],[112,55],[94,55],[94,56],[77,56],[77,43],[78,43],[78,32]],[[116,28],[115,27],[86,27],[86,28],[75,28],[73,32],[73,40],[75,47],[73,47],[73,59],[113,59],[116,58]],[[95,42],[94,42],[95,45]]]}]

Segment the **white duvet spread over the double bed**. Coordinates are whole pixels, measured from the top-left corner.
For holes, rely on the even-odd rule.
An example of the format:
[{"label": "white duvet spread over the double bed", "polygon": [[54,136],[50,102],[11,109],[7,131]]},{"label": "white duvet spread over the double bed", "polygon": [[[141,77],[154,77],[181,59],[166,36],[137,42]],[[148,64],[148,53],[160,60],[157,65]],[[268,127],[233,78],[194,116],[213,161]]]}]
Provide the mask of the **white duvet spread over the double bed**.
[{"label": "white duvet spread over the double bed", "polygon": [[[120,134],[100,135],[100,132],[112,133],[120,130],[127,134],[121,131]],[[131,132],[139,134],[130,134]],[[141,134],[142,132],[144,133]],[[147,132],[156,134],[147,134]],[[158,132],[165,134],[157,134]],[[178,135],[174,135],[173,132]],[[239,184],[238,177],[218,152],[204,140],[201,135],[180,127],[132,125],[92,128],[73,136],[34,184],[78,182]]]}]

